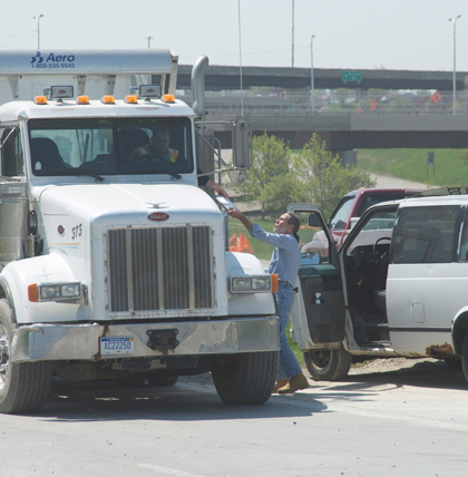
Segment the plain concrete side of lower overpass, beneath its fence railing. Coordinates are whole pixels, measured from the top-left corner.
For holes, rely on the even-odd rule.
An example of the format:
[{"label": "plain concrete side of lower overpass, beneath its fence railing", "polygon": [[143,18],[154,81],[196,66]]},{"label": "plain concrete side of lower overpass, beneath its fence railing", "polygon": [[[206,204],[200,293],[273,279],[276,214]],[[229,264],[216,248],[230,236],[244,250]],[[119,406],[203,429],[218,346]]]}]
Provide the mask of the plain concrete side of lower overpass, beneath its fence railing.
[{"label": "plain concrete side of lower overpass, beneath its fence railing", "polygon": [[[241,118],[241,115],[235,115]],[[230,114],[208,114],[207,120],[232,120]],[[318,133],[330,150],[359,148],[468,148],[467,115],[265,115],[246,113],[254,135],[282,137],[292,148],[302,148]],[[224,147],[231,145],[225,126],[214,126]]]}]

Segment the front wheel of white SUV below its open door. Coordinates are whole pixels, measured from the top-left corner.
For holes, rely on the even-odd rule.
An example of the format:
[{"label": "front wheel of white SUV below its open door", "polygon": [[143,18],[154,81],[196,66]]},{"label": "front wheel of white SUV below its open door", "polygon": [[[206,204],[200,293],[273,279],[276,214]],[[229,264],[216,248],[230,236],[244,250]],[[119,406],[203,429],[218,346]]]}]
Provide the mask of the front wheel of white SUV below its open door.
[{"label": "front wheel of white SUV below its open door", "polygon": [[314,381],[340,381],[351,368],[351,354],[340,344],[332,350],[304,351],[304,361]]}]

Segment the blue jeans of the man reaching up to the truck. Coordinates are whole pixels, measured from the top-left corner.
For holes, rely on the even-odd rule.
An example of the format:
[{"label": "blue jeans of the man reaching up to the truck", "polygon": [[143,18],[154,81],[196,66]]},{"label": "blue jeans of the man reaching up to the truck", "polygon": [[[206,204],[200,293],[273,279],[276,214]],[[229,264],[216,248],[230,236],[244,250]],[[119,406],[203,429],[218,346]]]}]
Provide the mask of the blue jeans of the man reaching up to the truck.
[{"label": "blue jeans of the man reaching up to the truck", "polygon": [[294,303],[294,292],[287,283],[280,283],[275,292],[277,314],[280,315],[280,368],[277,370],[276,381],[289,379],[294,374],[302,372],[291,347],[287,343],[286,327],[290,313]]}]

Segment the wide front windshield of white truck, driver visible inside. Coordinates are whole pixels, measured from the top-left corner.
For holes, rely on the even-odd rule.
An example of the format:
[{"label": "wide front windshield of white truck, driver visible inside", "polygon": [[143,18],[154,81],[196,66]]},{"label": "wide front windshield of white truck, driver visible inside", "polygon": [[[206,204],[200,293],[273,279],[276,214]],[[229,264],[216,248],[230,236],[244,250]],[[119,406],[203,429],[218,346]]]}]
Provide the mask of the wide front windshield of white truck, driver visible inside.
[{"label": "wide front windshield of white truck, driver visible inside", "polygon": [[31,119],[36,176],[194,171],[188,118]]}]

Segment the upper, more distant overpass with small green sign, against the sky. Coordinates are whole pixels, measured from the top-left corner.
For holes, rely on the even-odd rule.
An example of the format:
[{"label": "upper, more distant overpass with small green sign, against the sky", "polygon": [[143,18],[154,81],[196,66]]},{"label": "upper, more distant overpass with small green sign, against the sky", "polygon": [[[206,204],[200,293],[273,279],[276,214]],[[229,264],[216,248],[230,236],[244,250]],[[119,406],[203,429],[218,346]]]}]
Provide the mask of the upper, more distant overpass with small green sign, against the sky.
[{"label": "upper, more distant overpass with small green sign, against the sky", "polygon": [[[273,67],[243,67],[243,86],[270,86],[285,89],[310,88],[310,68],[273,68]],[[342,81],[347,69],[314,68],[315,89],[335,88],[380,88],[380,89],[437,89],[450,91],[452,89],[452,71],[408,71],[390,69],[363,69],[362,80]],[[191,88],[192,66],[179,65],[177,88]],[[464,79],[468,71],[456,74],[457,90],[465,88]],[[234,66],[211,65],[205,77],[206,90],[220,91],[241,89],[240,68]]]}]

